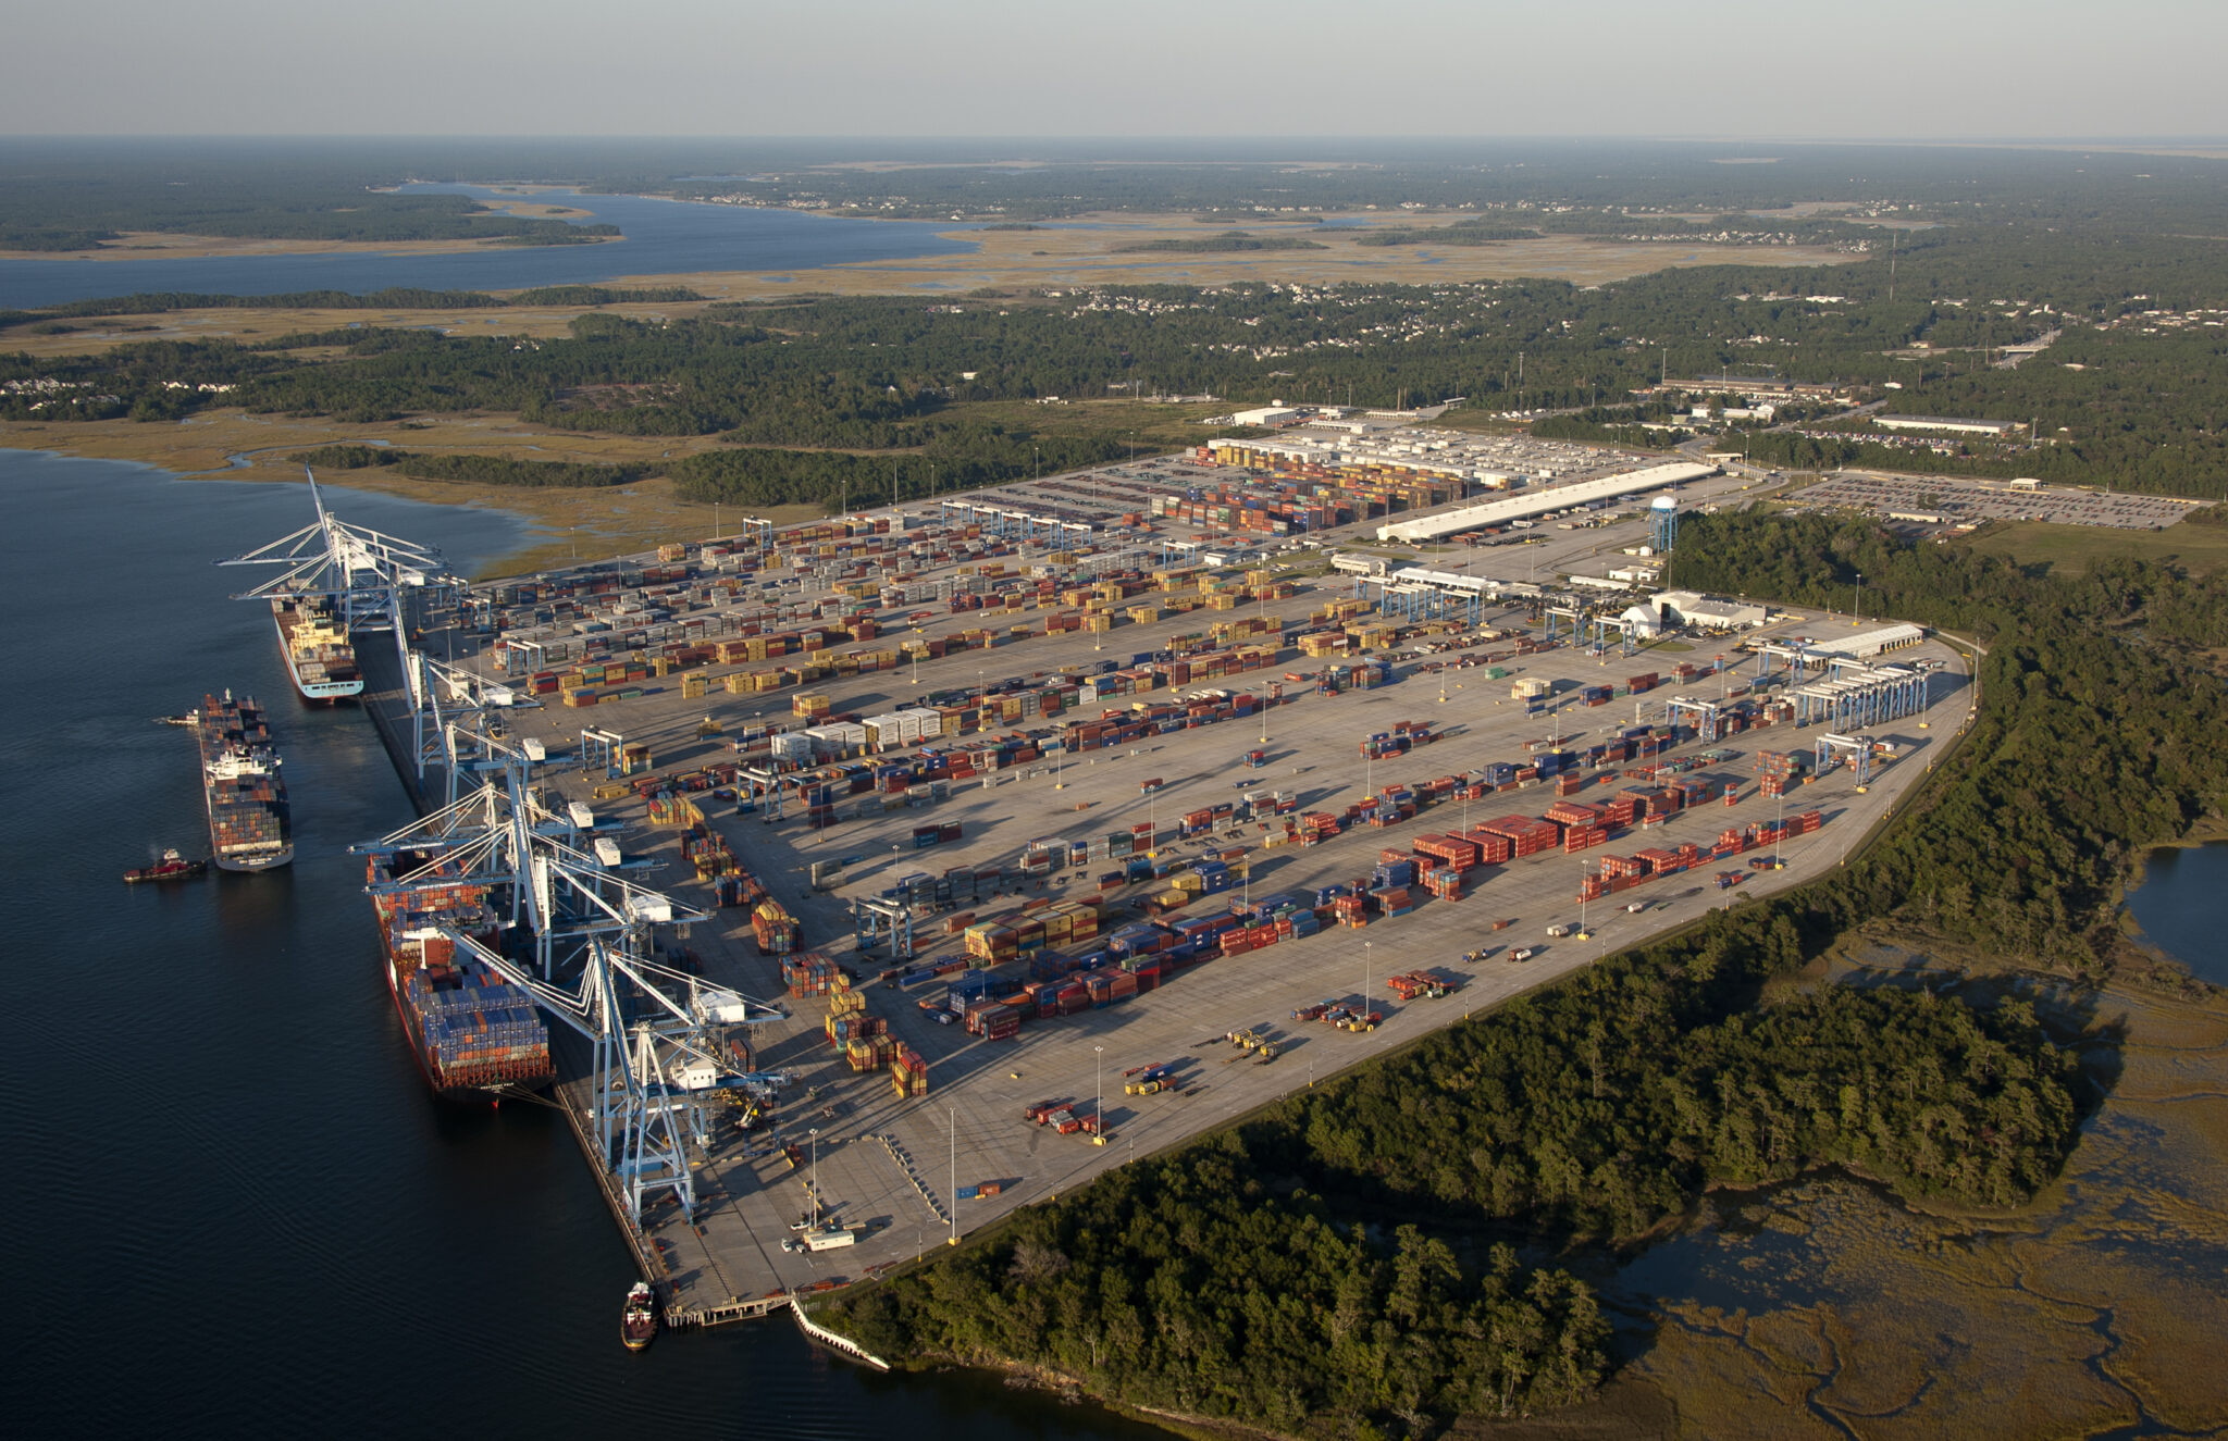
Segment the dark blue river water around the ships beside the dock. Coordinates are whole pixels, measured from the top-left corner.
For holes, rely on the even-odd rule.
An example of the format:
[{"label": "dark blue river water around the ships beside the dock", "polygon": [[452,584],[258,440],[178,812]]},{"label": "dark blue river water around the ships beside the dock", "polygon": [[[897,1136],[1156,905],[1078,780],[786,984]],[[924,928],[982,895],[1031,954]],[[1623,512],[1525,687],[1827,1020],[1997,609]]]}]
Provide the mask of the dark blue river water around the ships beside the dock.
[{"label": "dark blue river water around the ships beside the dock", "polygon": [[[470,568],[488,510],[330,490]],[[789,1321],[615,1336],[635,1278],[561,1118],[434,1102],[377,971],[350,842],[408,824],[352,708],[292,699],[247,572],[294,486],[0,450],[0,1414],[20,1437],[622,1425],[751,1437],[1156,1434],[980,1376],[876,1376]],[[194,748],[152,717],[261,697],[296,862],[125,886],[207,851]]]}]

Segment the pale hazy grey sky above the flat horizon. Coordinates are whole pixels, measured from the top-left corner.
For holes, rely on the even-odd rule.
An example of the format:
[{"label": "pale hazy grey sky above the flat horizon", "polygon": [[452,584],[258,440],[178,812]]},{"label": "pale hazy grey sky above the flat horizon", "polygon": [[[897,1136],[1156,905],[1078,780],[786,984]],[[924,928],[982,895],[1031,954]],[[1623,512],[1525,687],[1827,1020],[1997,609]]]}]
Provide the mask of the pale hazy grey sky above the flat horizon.
[{"label": "pale hazy grey sky above the flat horizon", "polygon": [[9,11],[18,136],[2228,136],[2228,0]]}]

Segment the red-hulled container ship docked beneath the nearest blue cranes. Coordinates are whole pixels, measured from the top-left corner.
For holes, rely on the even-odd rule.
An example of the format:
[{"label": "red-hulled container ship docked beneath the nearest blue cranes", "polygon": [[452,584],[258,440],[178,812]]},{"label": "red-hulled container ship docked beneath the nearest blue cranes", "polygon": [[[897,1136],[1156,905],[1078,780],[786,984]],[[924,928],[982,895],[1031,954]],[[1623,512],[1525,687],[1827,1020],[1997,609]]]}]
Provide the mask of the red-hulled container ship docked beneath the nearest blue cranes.
[{"label": "red-hulled container ship docked beneath the nearest blue cranes", "polygon": [[[372,886],[399,878],[423,878],[432,866],[423,851],[372,855],[365,880]],[[403,1020],[426,1085],[443,1100],[499,1105],[546,1087],[555,1078],[550,1033],[535,1013],[532,998],[483,962],[457,953],[443,935],[455,929],[495,951],[501,924],[488,904],[488,886],[412,886],[374,895],[379,944],[388,996]]]}]

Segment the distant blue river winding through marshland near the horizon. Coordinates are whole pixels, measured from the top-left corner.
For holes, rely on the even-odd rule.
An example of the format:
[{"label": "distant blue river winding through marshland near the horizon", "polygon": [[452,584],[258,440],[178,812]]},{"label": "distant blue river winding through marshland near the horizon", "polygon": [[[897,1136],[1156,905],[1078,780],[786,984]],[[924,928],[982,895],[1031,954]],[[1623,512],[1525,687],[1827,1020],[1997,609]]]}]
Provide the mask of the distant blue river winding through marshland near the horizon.
[{"label": "distant blue river winding through marshland near the horizon", "polygon": [[[414,185],[414,192],[497,192],[479,185]],[[713,269],[813,269],[847,261],[900,261],[974,249],[938,232],[967,225],[856,220],[798,209],[693,205],[646,196],[541,192],[532,200],[588,212],[575,225],[608,220],[624,241],[602,245],[495,245],[450,254],[397,252],[325,256],[209,256],[147,261],[0,261],[0,310],[36,310],[98,296],[192,292],[270,296],[296,290],[363,294],[388,285],[423,290],[524,290],[595,285],[619,276],[673,276]]]}]

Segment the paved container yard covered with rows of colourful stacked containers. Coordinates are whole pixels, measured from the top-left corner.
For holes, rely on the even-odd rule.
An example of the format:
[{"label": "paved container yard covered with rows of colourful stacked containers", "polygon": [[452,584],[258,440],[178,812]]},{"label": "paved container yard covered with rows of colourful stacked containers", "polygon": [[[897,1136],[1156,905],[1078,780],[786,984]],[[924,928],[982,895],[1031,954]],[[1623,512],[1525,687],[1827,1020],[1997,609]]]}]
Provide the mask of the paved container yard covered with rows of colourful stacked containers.
[{"label": "paved container yard covered with rows of colourful stacked containers", "polygon": [[[709,915],[673,940],[704,984],[786,1011],[731,1040],[786,1085],[711,1105],[693,1216],[635,1225],[604,1176],[671,1321],[876,1274],[1814,878],[1972,704],[1932,639],[1894,673],[1825,657],[1847,621],[1814,615],[1633,653],[1555,595],[1419,612],[1259,530],[1346,514],[1323,494],[1241,501],[1274,517],[1245,548],[1167,499],[1239,486],[1163,459],[459,608],[441,646],[521,702],[495,715],[550,804]],[[1321,539],[1386,514],[1343,503]],[[593,1154],[586,1082],[557,1096]]]}]

